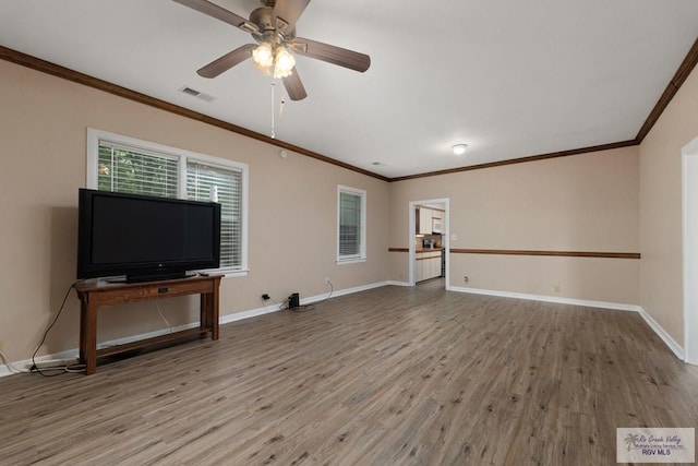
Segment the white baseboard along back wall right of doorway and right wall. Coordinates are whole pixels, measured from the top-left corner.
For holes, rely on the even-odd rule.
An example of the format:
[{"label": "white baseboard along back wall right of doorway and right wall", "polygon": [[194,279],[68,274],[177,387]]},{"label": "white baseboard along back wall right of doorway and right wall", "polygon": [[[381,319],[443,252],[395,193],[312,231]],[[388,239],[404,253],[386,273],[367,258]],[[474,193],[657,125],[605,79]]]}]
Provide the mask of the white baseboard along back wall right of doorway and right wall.
[{"label": "white baseboard along back wall right of doorway and right wall", "polygon": [[531,301],[544,301],[544,302],[557,302],[559,304],[573,304],[573,306],[586,306],[589,308],[601,308],[601,309],[613,309],[617,311],[630,311],[637,312],[642,316],[645,322],[654,331],[657,336],[659,336],[662,342],[669,347],[669,349],[676,355],[678,359],[682,361],[685,360],[685,351],[684,348],[679,344],[676,343],[672,336],[666,333],[666,331],[657,323],[654,319],[650,314],[645,311],[638,304],[626,304],[622,302],[606,302],[606,301],[590,301],[586,299],[571,299],[571,298],[562,298],[557,296],[544,296],[544,295],[528,295],[524,292],[509,292],[509,291],[496,291],[490,289],[478,289],[478,288],[464,288],[464,287],[449,287],[450,291],[458,292],[471,292],[474,295],[489,295],[489,296],[500,296],[504,298],[516,298],[516,299],[526,299]]}]

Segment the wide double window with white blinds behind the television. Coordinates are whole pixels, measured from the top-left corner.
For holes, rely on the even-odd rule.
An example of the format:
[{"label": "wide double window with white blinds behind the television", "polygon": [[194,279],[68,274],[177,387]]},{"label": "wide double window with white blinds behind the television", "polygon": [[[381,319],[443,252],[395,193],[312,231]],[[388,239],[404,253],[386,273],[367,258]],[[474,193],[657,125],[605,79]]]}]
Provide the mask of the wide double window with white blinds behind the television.
[{"label": "wide double window with white blinds behind the television", "polygon": [[246,271],[248,166],[88,129],[87,188],[221,206],[220,271]]}]

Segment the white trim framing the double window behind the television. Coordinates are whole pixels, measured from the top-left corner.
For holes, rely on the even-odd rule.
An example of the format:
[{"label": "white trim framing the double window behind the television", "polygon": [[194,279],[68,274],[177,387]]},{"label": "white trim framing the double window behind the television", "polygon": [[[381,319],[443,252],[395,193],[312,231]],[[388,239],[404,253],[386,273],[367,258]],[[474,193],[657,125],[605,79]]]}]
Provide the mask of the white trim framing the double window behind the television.
[{"label": "white trim framing the double window behind the television", "polygon": [[120,145],[128,145],[132,146],[135,150],[152,151],[155,153],[177,157],[179,159],[180,168],[177,196],[180,199],[186,199],[186,170],[182,169],[182,167],[186,167],[188,159],[202,162],[205,165],[210,165],[214,167],[240,170],[242,177],[242,228],[240,231],[242,244],[240,254],[240,268],[221,267],[210,270],[209,272],[222,273],[226,277],[248,275],[248,272],[250,272],[248,267],[248,181],[250,179],[250,167],[248,164],[228,160],[226,158],[213,157],[210,155],[185,151],[183,148],[170,147],[151,141],[143,141],[135,138],[124,136],[122,134],[96,130],[94,128],[87,128],[87,176],[85,180],[85,187],[87,189],[98,188],[97,166],[99,159],[100,141]]}]

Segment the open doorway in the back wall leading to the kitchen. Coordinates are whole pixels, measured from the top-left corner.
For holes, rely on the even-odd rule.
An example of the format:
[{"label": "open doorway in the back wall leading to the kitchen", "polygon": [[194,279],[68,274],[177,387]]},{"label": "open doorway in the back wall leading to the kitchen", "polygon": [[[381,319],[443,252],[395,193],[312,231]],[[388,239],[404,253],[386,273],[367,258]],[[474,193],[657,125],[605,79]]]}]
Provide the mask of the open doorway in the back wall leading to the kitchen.
[{"label": "open doorway in the back wall leading to the kitchen", "polygon": [[414,286],[418,283],[435,279],[433,277],[438,274],[443,282],[441,286],[448,289],[449,200],[410,201],[408,208],[409,285]]}]

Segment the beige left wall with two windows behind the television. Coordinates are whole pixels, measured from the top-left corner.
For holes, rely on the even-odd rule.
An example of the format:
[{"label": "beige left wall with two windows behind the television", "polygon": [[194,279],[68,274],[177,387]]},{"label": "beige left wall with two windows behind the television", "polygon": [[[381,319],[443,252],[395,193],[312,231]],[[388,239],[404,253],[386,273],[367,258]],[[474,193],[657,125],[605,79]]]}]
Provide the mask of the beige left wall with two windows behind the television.
[{"label": "beige left wall with two windows behind the television", "polygon": [[[86,129],[110,131],[250,165],[246,277],[226,278],[221,314],[381,283],[388,277],[389,184],[221,129],[0,61],[0,340],[11,360],[31,356],[75,277],[77,189],[85,186]],[[337,184],[368,192],[365,263],[337,265]],[[172,325],[195,319],[191,298],[159,302]],[[188,306],[192,303],[193,306]],[[79,303],[67,307],[39,354],[77,347]],[[153,303],[101,312],[99,339],[165,325]]]}]

